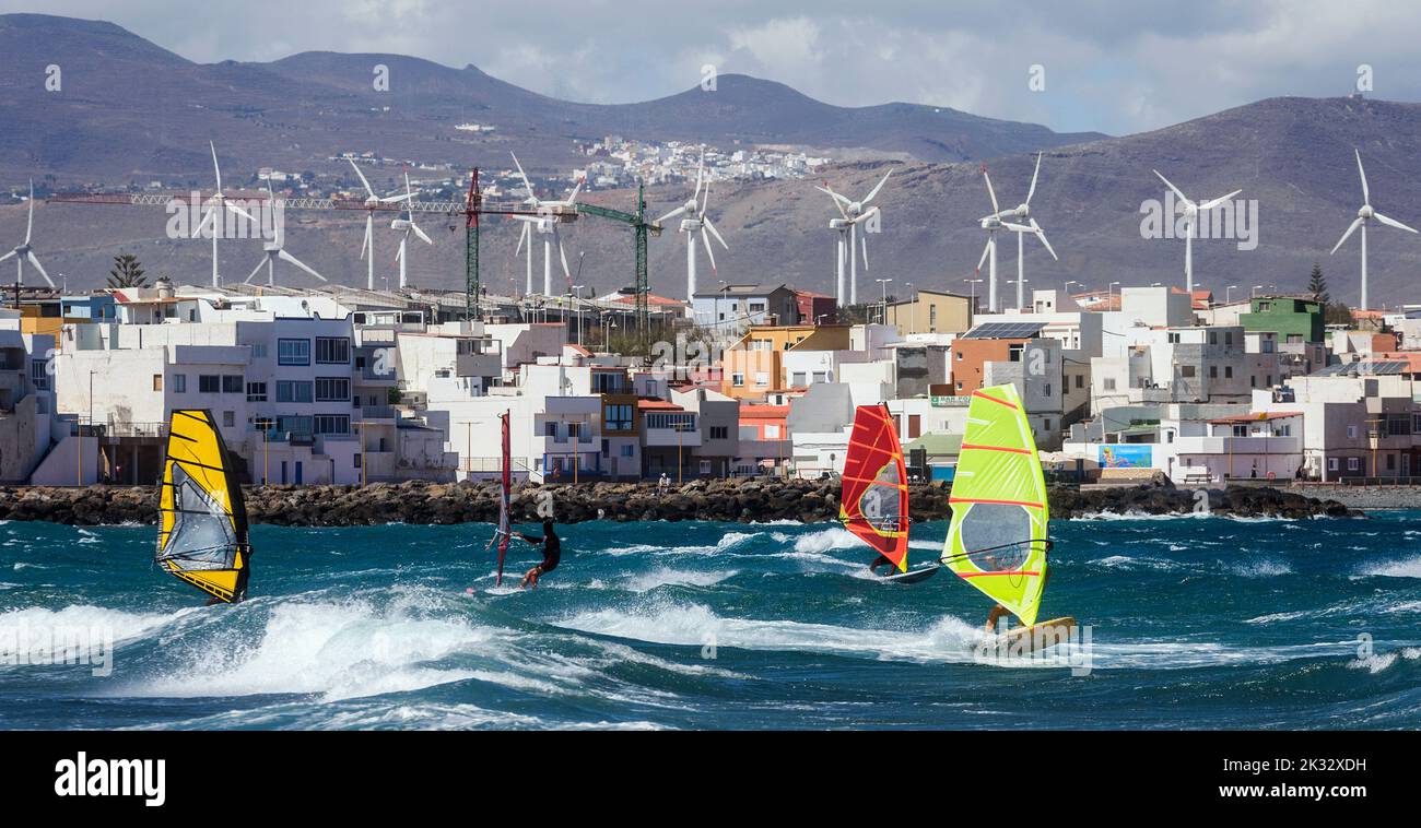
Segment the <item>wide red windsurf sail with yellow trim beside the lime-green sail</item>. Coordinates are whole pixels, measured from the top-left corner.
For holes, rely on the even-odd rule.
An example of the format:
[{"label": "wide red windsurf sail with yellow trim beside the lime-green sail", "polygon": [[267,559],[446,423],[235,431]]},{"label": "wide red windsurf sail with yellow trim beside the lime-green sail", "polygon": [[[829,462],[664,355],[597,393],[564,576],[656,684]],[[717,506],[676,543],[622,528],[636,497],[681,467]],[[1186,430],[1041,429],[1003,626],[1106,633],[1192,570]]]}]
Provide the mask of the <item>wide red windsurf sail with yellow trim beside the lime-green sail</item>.
[{"label": "wide red windsurf sail with yellow trim beside the lime-green sail", "polygon": [[838,518],[899,571],[908,571],[908,467],[888,406],[861,405],[844,459]]}]

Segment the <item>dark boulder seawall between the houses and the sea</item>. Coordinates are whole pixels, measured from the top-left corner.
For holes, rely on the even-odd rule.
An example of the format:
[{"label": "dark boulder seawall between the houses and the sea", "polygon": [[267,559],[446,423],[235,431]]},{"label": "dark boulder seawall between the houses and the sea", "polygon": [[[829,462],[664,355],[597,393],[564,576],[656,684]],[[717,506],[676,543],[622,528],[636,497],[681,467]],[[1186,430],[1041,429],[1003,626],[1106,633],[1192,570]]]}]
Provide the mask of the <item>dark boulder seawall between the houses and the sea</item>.
[{"label": "dark boulder seawall between the houses and the sea", "polygon": [[[951,487],[912,486],[915,521],[945,520]],[[371,525],[384,523],[493,523],[499,514],[497,484],[377,483],[355,486],[257,486],[246,489],[252,523],[280,525]],[[0,487],[0,520],[45,520],[74,525],[153,523],[153,487],[91,486]],[[1148,484],[1080,491],[1050,490],[1052,517],[1100,513],[1188,514],[1198,511],[1195,490]],[[1211,490],[1215,514],[1246,517],[1347,517],[1358,513],[1336,500],[1314,500],[1273,487]],[[557,523],[584,520],[713,520],[801,523],[838,518],[838,483],[828,480],[698,480],[658,493],[654,483],[522,484],[513,493],[513,520],[530,523],[551,514]]]}]

